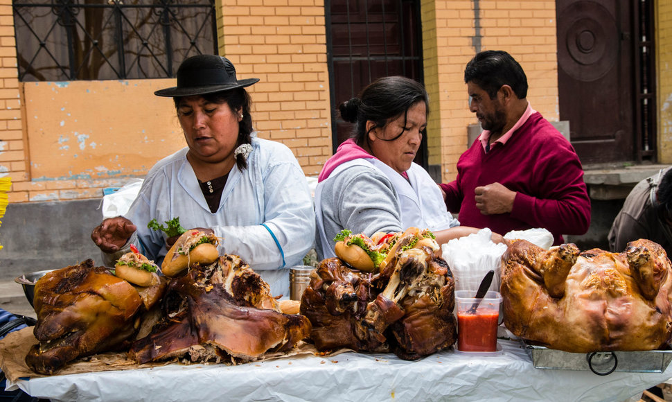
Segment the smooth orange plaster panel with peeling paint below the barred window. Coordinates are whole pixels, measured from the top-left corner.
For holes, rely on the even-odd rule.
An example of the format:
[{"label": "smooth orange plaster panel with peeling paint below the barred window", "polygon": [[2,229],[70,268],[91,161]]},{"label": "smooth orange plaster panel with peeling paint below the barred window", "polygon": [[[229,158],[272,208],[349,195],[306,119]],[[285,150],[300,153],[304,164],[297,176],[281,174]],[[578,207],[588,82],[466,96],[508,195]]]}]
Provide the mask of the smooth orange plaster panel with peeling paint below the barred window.
[{"label": "smooth orange plaster panel with peeling paint below the barred window", "polygon": [[170,98],[173,80],[26,82],[33,182],[145,175],[184,148]]}]

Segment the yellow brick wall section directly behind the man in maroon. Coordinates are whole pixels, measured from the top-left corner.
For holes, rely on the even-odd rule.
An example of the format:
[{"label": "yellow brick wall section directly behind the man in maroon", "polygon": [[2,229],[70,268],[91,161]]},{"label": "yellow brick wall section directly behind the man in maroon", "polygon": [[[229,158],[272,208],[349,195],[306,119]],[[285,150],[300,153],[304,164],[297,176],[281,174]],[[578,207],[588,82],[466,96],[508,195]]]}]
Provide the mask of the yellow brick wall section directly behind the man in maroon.
[{"label": "yellow brick wall section directly behind the man in maroon", "polygon": [[[477,53],[473,40],[476,15],[480,50],[511,53],[527,73],[528,99],[532,107],[551,121],[558,119],[555,1],[481,0],[478,3],[476,12],[472,1],[423,2],[423,18],[436,19],[436,32],[430,30],[430,33],[437,51],[425,53],[425,64],[430,67],[425,68],[425,79],[434,85],[428,87],[432,91],[432,113],[440,114],[440,121],[434,121],[436,116],[430,118],[430,127],[441,132],[444,181],[453,180],[457,174],[457,159],[470,145],[467,144],[467,127],[477,123],[468,110],[463,81],[464,66]],[[435,9],[425,10],[432,7]],[[426,60],[435,55],[437,67]]]}]

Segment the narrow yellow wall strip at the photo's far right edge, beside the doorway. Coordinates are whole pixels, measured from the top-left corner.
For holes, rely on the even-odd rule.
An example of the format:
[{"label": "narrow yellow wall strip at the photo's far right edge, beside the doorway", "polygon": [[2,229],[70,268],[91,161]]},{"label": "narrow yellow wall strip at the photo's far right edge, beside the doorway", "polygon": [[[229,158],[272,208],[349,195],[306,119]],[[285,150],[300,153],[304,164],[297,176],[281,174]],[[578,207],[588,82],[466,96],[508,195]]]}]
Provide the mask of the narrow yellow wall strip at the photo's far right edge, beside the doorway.
[{"label": "narrow yellow wall strip at the photo's far right edge, beside the doorway", "polygon": [[672,2],[656,2],[658,161],[672,164]]}]

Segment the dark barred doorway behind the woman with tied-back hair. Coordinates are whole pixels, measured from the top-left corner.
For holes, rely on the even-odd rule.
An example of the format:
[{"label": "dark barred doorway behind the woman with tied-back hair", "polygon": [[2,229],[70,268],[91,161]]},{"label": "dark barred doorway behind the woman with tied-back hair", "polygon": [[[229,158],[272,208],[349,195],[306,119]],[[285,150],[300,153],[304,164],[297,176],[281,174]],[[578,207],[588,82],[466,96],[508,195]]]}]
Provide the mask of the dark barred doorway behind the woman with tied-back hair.
[{"label": "dark barred doorway behind the woman with tied-back hair", "polygon": [[[328,0],[325,8],[335,151],[353,130],[339,118],[338,105],[376,78],[423,82],[420,1]],[[426,138],[415,161],[427,167]]]}]

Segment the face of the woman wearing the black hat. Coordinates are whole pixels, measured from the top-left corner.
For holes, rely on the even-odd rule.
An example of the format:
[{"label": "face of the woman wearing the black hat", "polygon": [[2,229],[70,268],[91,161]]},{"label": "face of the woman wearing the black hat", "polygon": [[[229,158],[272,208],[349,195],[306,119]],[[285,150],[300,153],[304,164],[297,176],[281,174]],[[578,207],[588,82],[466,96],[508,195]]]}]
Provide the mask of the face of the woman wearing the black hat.
[{"label": "face of the woman wearing the black hat", "polygon": [[238,123],[242,119],[240,110],[231,110],[226,102],[213,103],[202,96],[188,96],[179,100],[177,116],[191,156],[209,163],[234,161]]}]

